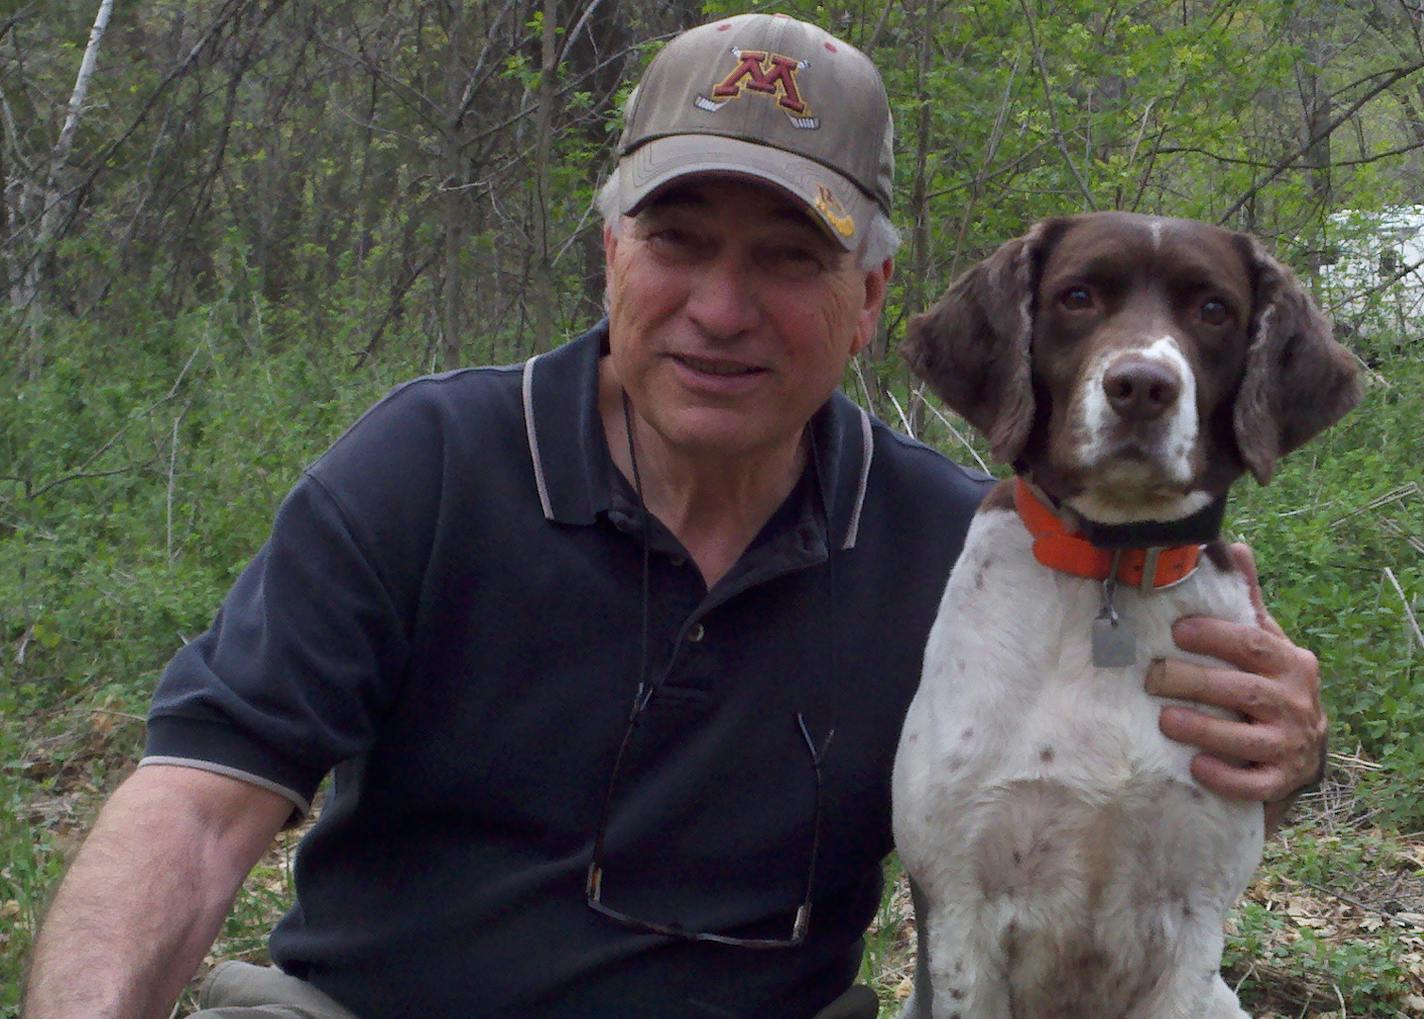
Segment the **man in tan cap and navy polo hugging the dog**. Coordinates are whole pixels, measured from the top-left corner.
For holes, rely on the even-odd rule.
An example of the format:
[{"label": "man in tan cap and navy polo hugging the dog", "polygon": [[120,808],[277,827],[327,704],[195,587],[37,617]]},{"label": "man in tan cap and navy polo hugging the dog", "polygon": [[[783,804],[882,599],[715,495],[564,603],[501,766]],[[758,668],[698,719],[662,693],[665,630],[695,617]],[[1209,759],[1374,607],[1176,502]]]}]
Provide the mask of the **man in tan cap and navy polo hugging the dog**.
[{"label": "man in tan cap and navy polo hugging the dog", "polygon": [[[874,1015],[847,988],[894,743],[984,491],[834,391],[891,273],[890,141],[874,68],[812,26],[659,54],[604,191],[608,320],[396,390],[305,472],[165,673],[31,1019],[167,1015],[332,769],[281,971],[219,966],[206,1019]],[[1259,722],[1163,717],[1203,783],[1306,781],[1307,653],[1182,646],[1256,673],[1156,680]]]}]

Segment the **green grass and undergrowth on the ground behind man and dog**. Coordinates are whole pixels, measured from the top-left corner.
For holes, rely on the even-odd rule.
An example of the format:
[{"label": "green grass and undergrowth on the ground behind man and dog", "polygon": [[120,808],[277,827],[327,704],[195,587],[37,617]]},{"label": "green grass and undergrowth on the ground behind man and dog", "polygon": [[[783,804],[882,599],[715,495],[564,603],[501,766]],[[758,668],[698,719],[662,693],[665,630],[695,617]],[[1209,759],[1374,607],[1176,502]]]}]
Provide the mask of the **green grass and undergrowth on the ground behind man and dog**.
[{"label": "green grass and undergrowth on the ground behind man and dog", "polygon": [[[174,364],[202,350],[195,334],[168,344]],[[41,480],[122,434],[93,477],[33,498],[0,480],[0,1016],[16,1013],[64,860],[137,759],[157,670],[206,625],[300,464],[384,384],[333,381],[336,367],[299,344],[262,357],[229,357],[221,336],[209,346],[182,386],[171,366],[124,377],[75,360],[53,383],[0,391],[0,455]],[[1417,346],[1364,352],[1376,371],[1366,406],[1269,488],[1243,482],[1233,497],[1229,532],[1256,549],[1273,613],[1320,655],[1331,741],[1347,750],[1270,844],[1233,918],[1227,973],[1259,1016],[1424,1016]],[[265,958],[292,845],[285,837],[253,871],[215,958]],[[889,874],[864,966],[887,1016],[909,989],[914,938],[893,860]]]}]

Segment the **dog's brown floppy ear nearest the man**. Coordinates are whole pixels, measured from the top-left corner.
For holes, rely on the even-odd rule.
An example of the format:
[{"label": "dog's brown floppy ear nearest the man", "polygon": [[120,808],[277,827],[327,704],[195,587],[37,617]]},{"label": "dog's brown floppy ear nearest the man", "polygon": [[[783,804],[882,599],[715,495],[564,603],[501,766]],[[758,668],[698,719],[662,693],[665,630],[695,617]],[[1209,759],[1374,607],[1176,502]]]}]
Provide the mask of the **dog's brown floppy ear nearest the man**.
[{"label": "dog's brown floppy ear nearest the man", "polygon": [[1049,219],[1002,245],[910,319],[900,353],[944,403],[1012,463],[1034,424],[1030,347],[1038,268],[1067,221]]}]

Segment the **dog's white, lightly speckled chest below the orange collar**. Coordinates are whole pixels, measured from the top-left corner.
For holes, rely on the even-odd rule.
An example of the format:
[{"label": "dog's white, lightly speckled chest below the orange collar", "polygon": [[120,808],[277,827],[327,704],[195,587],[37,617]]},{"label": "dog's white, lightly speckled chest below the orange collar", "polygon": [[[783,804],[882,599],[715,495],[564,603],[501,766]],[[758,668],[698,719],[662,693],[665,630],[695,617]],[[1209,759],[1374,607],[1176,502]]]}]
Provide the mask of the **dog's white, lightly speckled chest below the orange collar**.
[{"label": "dog's white, lightly speckled chest below the orange collar", "polygon": [[1126,667],[1094,666],[1102,598],[1101,584],[1041,566],[1014,512],[981,512],[894,769],[896,841],[920,885],[970,909],[964,922],[1021,938],[1040,918],[1052,955],[1078,951],[1067,944],[1078,926],[1092,951],[1132,946],[1118,958],[1180,932],[1183,911],[1210,926],[1260,845],[1260,808],[1196,786],[1195,751],[1161,734],[1166,702],[1143,689],[1152,659],[1190,658],[1172,642],[1175,619],[1253,619],[1243,578],[1203,559],[1172,589],[1119,588],[1136,643]]}]

